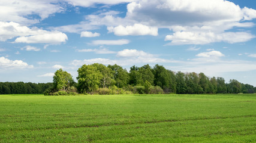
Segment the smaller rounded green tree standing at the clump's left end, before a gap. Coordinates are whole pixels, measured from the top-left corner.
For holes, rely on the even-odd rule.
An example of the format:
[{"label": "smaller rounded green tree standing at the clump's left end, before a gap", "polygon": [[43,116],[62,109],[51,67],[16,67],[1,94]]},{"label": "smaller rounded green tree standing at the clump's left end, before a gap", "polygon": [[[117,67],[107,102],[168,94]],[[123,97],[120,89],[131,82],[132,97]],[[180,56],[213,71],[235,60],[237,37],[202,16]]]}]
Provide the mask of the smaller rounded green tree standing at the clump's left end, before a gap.
[{"label": "smaller rounded green tree standing at the clump's left end, before a gap", "polygon": [[67,88],[72,86],[73,83],[74,80],[71,74],[62,69],[57,70],[53,76],[53,87],[57,91],[67,91]]}]

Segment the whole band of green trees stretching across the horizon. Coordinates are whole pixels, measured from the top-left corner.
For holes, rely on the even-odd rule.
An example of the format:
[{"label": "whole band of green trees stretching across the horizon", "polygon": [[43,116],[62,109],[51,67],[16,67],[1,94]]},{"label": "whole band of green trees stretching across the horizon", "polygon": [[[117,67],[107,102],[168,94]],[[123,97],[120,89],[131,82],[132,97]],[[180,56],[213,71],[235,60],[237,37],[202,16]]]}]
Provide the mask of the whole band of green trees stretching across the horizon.
[{"label": "whole band of green trees stretching across the horizon", "polygon": [[77,83],[67,71],[59,69],[53,83],[0,82],[0,94],[253,94],[256,88],[238,82],[225,82],[223,77],[208,77],[204,73],[182,73],[156,64],[132,66],[129,72],[118,65],[83,65]]}]

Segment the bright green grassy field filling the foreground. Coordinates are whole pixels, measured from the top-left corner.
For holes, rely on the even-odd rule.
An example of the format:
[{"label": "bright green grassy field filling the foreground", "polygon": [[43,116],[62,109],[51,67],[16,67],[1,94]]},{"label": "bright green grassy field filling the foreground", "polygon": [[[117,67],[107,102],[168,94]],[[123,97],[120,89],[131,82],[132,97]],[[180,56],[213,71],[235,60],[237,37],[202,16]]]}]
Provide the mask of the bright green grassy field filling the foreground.
[{"label": "bright green grassy field filling the foreground", "polygon": [[0,95],[0,142],[256,142],[256,94]]}]

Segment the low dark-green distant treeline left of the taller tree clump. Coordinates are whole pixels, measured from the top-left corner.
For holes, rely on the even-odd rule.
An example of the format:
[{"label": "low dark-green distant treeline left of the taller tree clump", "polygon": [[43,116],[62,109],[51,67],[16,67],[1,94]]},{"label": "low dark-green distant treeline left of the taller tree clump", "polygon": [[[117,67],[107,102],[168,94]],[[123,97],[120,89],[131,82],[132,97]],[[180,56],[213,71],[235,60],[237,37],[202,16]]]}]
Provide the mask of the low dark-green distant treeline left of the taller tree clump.
[{"label": "low dark-green distant treeline left of the taller tree clump", "polygon": [[53,83],[0,82],[0,94],[43,94]]}]

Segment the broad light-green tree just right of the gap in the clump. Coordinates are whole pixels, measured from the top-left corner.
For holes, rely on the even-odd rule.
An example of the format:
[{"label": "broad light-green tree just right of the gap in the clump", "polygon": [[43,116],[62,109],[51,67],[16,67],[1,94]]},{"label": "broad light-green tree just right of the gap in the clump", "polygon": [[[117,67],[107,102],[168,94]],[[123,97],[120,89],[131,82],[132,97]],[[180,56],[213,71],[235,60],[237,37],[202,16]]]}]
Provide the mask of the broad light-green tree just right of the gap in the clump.
[{"label": "broad light-green tree just right of the gap in the clump", "polygon": [[78,85],[77,89],[80,93],[91,93],[98,89],[100,80],[103,78],[103,74],[97,70],[97,67],[84,64],[78,71]]}]

